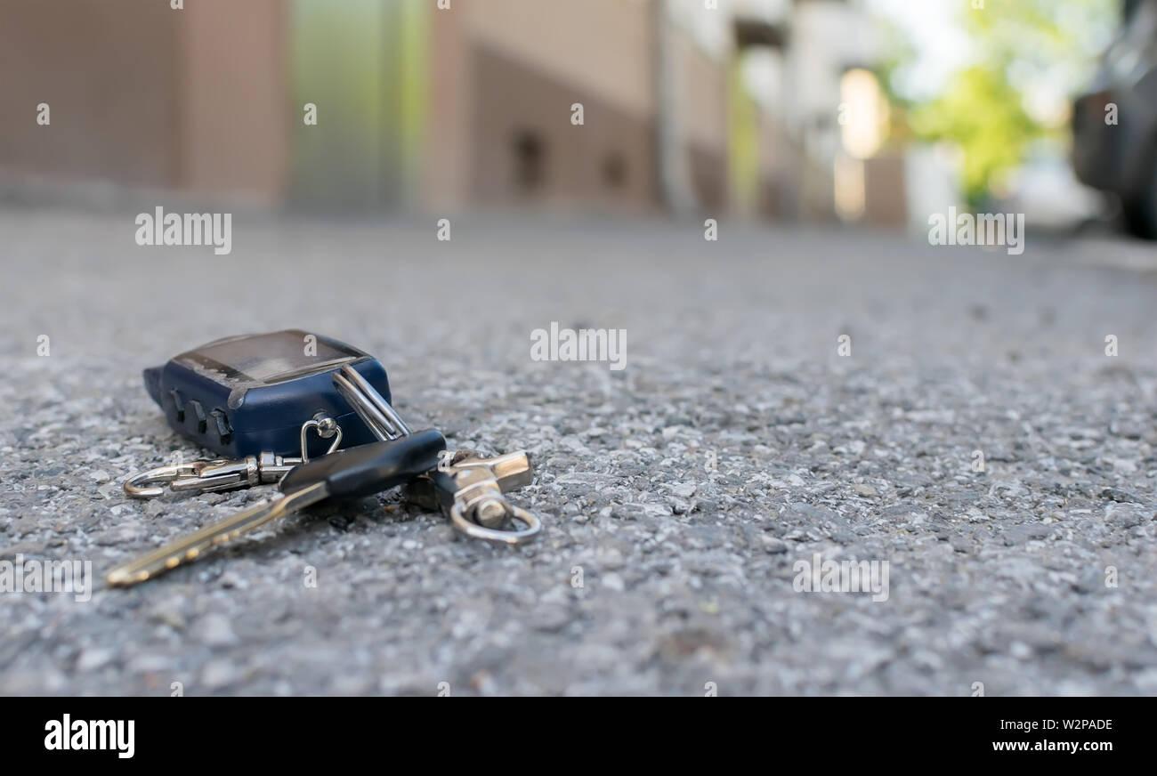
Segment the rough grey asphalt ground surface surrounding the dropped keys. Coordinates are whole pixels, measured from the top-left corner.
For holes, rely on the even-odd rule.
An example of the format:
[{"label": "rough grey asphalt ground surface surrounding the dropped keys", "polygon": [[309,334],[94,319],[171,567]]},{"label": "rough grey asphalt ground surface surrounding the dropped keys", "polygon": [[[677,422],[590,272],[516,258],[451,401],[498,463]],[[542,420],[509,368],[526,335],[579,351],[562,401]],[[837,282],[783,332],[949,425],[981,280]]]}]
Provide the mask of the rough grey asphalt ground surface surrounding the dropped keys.
[{"label": "rough grey asphalt ground surface surrounding the dropped keys", "polygon": [[[454,445],[528,449],[546,523],[454,540],[392,493],[88,601],[0,593],[0,693],[1157,693],[1157,274],[1112,241],[433,221],[238,213],[214,257],[0,213],[0,560],[101,577],[260,498],[119,481],[205,454],[143,367],[283,327],[378,355]],[[627,368],[531,361],[552,320],[625,328]],[[797,592],[816,553],[887,561],[887,599]]]}]

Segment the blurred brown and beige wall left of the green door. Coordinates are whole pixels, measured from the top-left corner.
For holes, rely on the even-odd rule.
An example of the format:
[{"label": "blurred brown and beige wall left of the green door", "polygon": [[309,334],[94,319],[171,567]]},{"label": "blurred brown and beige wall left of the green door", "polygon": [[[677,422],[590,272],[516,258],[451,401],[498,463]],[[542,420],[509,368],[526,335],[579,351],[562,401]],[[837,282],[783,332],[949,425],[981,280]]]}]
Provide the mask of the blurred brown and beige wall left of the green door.
[{"label": "blurred brown and beige wall left of the green door", "polygon": [[[281,0],[0,3],[0,172],[250,194],[287,165]],[[36,124],[49,103],[51,124]]]}]

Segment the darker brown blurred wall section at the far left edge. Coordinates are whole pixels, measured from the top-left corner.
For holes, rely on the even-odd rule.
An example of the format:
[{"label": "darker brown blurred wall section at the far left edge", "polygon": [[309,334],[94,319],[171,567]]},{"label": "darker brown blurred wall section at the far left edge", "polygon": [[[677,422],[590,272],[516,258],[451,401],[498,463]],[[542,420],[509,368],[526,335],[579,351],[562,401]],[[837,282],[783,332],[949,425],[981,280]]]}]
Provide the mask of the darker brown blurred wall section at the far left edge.
[{"label": "darker brown blurred wall section at the far left edge", "polygon": [[0,171],[175,184],[179,36],[168,3],[3,0]]}]

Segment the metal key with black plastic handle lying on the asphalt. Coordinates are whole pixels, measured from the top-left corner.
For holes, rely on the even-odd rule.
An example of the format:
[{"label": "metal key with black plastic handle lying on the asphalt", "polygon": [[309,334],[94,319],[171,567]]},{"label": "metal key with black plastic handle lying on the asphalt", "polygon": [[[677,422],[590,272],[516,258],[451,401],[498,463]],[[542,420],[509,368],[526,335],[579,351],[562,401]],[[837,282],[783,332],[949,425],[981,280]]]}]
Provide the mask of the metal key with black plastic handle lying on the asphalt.
[{"label": "metal key with black plastic handle lying on the asphalt", "polygon": [[326,498],[356,498],[388,490],[435,468],[445,450],[441,431],[426,429],[397,439],[333,452],[299,466],[278,486],[281,495],[263,501],[184,539],[118,566],[108,574],[110,585],[134,585],[206,550],[236,539],[270,520],[293,515]]}]

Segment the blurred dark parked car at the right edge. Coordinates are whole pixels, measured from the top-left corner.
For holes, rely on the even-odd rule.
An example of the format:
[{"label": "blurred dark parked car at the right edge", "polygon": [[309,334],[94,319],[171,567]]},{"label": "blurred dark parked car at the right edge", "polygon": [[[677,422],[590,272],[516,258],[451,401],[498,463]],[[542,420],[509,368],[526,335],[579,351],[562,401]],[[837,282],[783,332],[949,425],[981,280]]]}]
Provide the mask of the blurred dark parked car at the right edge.
[{"label": "blurred dark parked car at the right edge", "polygon": [[1073,111],[1082,182],[1121,198],[1126,226],[1157,239],[1157,0],[1125,0],[1125,23]]}]

